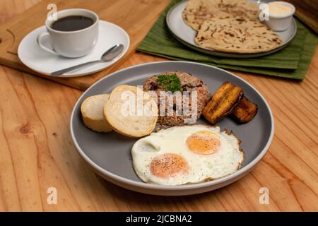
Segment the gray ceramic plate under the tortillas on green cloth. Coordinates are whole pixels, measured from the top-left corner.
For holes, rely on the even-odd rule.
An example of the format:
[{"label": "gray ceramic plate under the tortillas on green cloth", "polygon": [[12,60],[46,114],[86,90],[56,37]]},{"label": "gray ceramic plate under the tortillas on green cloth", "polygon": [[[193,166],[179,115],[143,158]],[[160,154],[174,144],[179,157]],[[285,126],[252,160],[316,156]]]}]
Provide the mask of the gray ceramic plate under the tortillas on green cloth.
[{"label": "gray ceramic plate under the tortillas on green cloth", "polygon": [[[269,1],[261,1],[261,2],[266,3]],[[213,51],[205,47],[200,47],[198,44],[196,44],[196,42],[194,42],[194,37],[196,37],[196,31],[193,30],[191,27],[189,27],[186,23],[184,23],[182,18],[182,11],[184,11],[184,8],[186,6],[187,6],[187,1],[182,1],[179,4],[176,4],[175,6],[170,8],[170,11],[167,13],[167,17],[166,17],[167,27],[169,28],[172,35],[177,40],[179,40],[179,42],[182,42],[187,47],[190,47],[196,51],[203,52],[204,54],[210,54],[210,55],[218,56],[218,57],[232,57],[232,58],[261,57],[261,56],[272,54],[286,47],[287,44],[291,40],[293,40],[293,37],[296,35],[296,32],[297,32],[297,25],[295,23],[295,20],[293,19],[292,23],[290,24],[290,27],[287,30],[276,32],[276,34],[281,36],[281,39],[283,40],[283,44],[276,49],[273,49],[268,52],[261,52],[256,54],[235,54],[235,53],[233,54],[233,53],[227,53],[227,52]]]}]

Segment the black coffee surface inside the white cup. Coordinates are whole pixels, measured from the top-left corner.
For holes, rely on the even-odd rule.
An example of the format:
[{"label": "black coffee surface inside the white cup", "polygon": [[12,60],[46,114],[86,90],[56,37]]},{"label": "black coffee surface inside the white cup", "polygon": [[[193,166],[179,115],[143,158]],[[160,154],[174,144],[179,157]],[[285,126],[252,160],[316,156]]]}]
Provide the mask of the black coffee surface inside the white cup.
[{"label": "black coffee surface inside the white cup", "polygon": [[60,31],[82,30],[93,25],[95,21],[86,16],[66,16],[55,21],[51,28]]}]

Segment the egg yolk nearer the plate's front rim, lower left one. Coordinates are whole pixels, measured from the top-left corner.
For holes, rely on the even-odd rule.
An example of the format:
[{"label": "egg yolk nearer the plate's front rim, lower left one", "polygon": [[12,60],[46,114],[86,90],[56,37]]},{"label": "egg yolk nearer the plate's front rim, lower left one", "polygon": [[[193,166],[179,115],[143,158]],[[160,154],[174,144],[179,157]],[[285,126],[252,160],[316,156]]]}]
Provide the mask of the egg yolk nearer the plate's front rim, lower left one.
[{"label": "egg yolk nearer the plate's front rim, lower left one", "polygon": [[186,174],[189,169],[187,161],[181,155],[166,153],[155,157],[151,162],[151,173],[156,177],[169,178]]}]

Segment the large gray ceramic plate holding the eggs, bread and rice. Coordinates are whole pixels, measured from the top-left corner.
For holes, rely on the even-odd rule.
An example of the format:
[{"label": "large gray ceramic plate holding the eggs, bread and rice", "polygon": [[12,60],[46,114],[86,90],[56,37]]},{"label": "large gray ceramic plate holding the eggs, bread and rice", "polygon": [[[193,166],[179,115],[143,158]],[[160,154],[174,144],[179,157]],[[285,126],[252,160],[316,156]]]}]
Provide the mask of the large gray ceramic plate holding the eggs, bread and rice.
[{"label": "large gray ceramic plate holding the eggs, bread and rice", "polygon": [[[232,130],[242,140],[242,148],[245,150],[245,162],[237,172],[200,184],[182,186],[160,186],[146,184],[136,176],[131,164],[131,147],[137,141],[127,138],[115,132],[97,133],[87,129],[81,117],[81,103],[86,97],[100,93],[110,93],[120,84],[141,85],[148,76],[164,71],[185,71],[198,76],[207,85],[211,93],[224,81],[230,81],[243,88],[245,95],[257,103],[259,112],[248,124],[236,124],[232,119],[225,118],[218,125],[221,129]],[[206,124],[204,119],[198,123]],[[71,136],[81,157],[95,169],[95,171],[108,181],[126,189],[147,194],[165,196],[179,196],[198,194],[205,191],[218,189],[235,182],[243,177],[249,169],[261,160],[271,144],[273,138],[273,116],[271,109],[264,97],[241,78],[232,73],[205,64],[186,61],[163,61],[150,64],[141,64],[112,73],[92,85],[79,98],[71,114]]]}]

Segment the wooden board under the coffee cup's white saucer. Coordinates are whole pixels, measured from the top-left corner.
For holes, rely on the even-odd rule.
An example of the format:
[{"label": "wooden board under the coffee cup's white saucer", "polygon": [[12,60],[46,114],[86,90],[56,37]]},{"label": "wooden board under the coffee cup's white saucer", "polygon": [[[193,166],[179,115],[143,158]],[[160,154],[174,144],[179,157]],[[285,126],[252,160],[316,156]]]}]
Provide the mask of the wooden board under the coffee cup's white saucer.
[{"label": "wooden board under the coffee cup's white saucer", "polygon": [[[0,24],[0,64],[41,76],[57,83],[69,85],[79,90],[86,90],[90,85],[107,76],[122,64],[127,57],[133,54],[143,37],[147,34],[160,13],[167,6],[169,0],[43,0],[32,8],[24,11],[18,16]],[[37,73],[24,66],[18,59],[18,45],[30,31],[45,23],[48,4],[56,4],[57,10],[65,8],[87,8],[95,11],[101,20],[115,23],[128,32],[131,46],[126,55],[116,64],[104,71],[93,73],[90,76],[78,78],[53,78]]]}]

